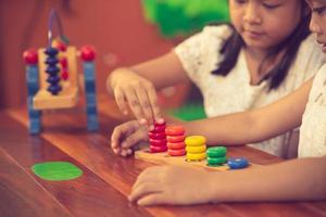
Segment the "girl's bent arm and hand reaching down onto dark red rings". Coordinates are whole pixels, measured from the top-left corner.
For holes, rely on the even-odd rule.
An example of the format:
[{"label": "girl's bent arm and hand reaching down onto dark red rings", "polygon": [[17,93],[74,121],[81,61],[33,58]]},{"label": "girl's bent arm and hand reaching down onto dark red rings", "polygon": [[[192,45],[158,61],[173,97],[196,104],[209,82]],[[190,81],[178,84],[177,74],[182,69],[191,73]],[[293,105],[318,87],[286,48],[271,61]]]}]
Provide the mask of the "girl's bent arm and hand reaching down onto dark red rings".
[{"label": "girl's bent arm and hand reaching down onto dark red rings", "polygon": [[113,71],[106,80],[108,91],[115,97],[120,110],[127,114],[128,106],[137,119],[160,119],[156,89],[187,80],[188,76],[174,51],[134,65]]}]

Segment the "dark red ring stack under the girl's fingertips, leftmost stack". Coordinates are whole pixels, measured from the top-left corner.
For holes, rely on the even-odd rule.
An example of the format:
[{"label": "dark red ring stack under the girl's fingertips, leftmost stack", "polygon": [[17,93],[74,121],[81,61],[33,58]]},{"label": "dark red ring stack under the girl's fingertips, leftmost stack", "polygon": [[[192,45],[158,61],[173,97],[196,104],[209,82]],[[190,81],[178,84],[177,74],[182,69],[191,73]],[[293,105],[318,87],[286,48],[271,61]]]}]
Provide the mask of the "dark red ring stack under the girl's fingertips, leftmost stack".
[{"label": "dark red ring stack under the girl's fingertips, leftmost stack", "polygon": [[167,150],[165,128],[165,122],[162,124],[154,122],[154,129],[148,132],[152,153],[165,152]]}]

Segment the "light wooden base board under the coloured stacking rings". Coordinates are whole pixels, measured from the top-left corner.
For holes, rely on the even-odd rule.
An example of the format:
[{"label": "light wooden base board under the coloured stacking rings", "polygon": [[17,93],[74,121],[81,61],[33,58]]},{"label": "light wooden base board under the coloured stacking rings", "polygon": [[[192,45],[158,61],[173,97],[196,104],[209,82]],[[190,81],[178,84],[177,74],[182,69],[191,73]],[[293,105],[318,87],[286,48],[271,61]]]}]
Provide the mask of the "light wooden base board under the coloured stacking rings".
[{"label": "light wooden base board under the coloured stacking rings", "polygon": [[[145,162],[150,162],[160,165],[167,164],[167,165],[178,165],[178,166],[197,166],[197,167],[203,167],[206,169],[213,169],[218,171],[225,171],[229,169],[229,167],[226,164],[223,166],[212,167],[212,166],[208,166],[206,159],[201,162],[187,162],[186,156],[170,156],[167,152],[151,153],[149,149],[141,149],[136,151],[135,157],[138,159],[142,159]],[[252,166],[253,165],[250,165],[249,167]]]}]

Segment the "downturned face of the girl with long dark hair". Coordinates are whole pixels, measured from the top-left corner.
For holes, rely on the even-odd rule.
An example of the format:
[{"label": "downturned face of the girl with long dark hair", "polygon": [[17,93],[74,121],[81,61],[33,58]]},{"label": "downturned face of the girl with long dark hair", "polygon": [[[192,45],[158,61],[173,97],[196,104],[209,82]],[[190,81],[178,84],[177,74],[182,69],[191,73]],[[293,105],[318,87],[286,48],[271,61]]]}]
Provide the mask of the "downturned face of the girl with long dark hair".
[{"label": "downturned face of the girl with long dark hair", "polygon": [[231,23],[246,46],[271,49],[287,38],[302,15],[300,0],[229,0]]}]

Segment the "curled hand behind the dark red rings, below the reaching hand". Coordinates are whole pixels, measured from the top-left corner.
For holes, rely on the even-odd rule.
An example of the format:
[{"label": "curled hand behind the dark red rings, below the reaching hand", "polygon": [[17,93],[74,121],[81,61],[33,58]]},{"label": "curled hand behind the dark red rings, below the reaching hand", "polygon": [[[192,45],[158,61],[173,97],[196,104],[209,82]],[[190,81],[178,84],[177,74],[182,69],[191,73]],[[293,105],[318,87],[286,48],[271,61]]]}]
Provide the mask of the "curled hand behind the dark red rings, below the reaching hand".
[{"label": "curled hand behind the dark red rings, below the reaching hand", "polygon": [[133,154],[131,148],[141,141],[148,141],[148,128],[138,120],[118,125],[111,136],[111,148],[115,154],[128,156]]}]

